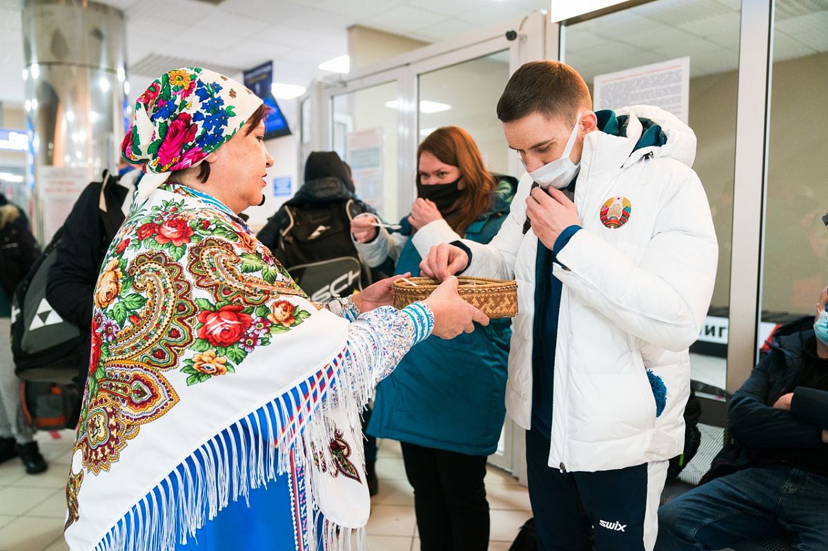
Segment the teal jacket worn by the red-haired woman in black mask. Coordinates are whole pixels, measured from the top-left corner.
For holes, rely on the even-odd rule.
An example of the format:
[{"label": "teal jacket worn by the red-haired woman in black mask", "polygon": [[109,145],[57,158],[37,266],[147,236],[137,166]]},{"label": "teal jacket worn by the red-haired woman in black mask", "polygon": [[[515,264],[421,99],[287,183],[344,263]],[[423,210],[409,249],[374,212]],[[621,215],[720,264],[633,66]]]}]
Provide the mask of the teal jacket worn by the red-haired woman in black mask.
[{"label": "teal jacket worn by the red-haired woman in black mask", "polygon": [[[466,229],[466,238],[488,243],[508,214],[517,180],[497,175],[493,207]],[[403,218],[405,232],[410,225]],[[420,275],[421,256],[409,238],[394,273]],[[450,341],[431,336],[416,344],[377,386],[368,434],[427,448],[489,455],[498,446],[506,414],[506,363],[510,319],[475,323],[474,333]]]}]

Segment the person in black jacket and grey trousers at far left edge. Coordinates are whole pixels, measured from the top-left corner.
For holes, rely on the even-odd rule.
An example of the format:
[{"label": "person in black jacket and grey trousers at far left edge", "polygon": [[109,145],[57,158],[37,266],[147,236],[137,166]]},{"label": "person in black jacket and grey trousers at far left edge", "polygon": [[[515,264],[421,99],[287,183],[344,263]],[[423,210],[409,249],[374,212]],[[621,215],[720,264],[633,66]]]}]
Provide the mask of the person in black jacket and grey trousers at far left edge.
[{"label": "person in black jacket and grey trousers at far left edge", "polygon": [[31,429],[17,422],[20,380],[14,374],[8,335],[12,295],[40,253],[26,214],[0,194],[0,462],[20,456],[29,474],[46,471],[46,461]]}]

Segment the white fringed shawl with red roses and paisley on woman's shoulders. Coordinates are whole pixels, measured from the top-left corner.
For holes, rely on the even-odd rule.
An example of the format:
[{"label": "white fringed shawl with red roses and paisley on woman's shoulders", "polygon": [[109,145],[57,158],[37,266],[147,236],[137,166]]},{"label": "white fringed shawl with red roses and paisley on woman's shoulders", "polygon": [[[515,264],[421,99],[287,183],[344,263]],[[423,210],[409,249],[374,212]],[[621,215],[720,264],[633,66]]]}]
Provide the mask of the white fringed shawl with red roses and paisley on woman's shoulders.
[{"label": "white fringed shawl with red roses and paisley on woman's shoulders", "polygon": [[316,549],[318,533],[335,549],[364,525],[359,408],[373,379],[339,367],[376,351],[346,348],[348,322],[224,205],[178,184],[133,205],[94,303],[71,549],[174,549],[282,477],[296,549]]}]

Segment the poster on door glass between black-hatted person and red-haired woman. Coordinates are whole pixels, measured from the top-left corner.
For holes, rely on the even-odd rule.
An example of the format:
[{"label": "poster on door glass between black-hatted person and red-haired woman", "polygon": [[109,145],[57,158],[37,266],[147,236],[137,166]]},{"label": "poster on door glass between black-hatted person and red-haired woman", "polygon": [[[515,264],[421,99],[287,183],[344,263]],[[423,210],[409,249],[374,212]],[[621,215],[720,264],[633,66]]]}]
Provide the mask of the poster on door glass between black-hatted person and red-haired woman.
[{"label": "poster on door glass between black-hatted person and red-haired woman", "polygon": [[347,139],[348,164],[354,175],[354,188],[359,199],[383,210],[383,128],[369,128],[349,132]]}]

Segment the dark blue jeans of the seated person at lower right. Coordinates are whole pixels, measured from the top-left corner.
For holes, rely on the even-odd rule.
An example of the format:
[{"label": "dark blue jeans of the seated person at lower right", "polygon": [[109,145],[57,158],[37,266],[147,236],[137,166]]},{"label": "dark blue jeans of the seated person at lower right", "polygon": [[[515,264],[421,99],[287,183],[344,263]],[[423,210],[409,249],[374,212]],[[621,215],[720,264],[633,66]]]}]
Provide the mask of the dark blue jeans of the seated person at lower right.
[{"label": "dark blue jeans of the seated person at lower right", "polygon": [[799,551],[828,549],[828,477],[785,465],[715,478],[658,510],[657,551],[721,549],[794,535]]}]

